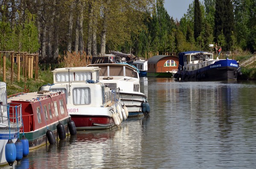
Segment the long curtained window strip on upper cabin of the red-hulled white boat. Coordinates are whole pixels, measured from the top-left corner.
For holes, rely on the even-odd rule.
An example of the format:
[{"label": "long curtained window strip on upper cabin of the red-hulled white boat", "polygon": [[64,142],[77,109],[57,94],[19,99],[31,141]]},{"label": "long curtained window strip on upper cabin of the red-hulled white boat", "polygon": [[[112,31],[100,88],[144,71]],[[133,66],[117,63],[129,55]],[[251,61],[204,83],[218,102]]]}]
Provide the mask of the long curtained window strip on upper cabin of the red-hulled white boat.
[{"label": "long curtained window strip on upper cabin of the red-hulled white boat", "polygon": [[85,81],[91,80],[91,72],[59,72],[55,74],[56,82]]}]

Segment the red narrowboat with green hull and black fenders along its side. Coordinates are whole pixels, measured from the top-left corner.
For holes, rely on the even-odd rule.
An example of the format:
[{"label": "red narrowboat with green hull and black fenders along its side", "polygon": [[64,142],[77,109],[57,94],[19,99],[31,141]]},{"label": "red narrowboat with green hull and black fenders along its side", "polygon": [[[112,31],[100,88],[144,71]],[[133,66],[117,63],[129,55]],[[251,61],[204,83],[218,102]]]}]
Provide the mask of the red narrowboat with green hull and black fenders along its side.
[{"label": "red narrowboat with green hull and black fenders along its side", "polygon": [[[29,149],[41,146],[47,140],[50,144],[55,144],[57,134],[60,139],[66,138],[70,117],[65,106],[64,93],[49,91],[19,93],[9,96],[8,102],[19,103],[22,106],[24,125],[20,128],[20,138],[25,136],[28,139]],[[61,126],[60,131],[58,126]]]}]

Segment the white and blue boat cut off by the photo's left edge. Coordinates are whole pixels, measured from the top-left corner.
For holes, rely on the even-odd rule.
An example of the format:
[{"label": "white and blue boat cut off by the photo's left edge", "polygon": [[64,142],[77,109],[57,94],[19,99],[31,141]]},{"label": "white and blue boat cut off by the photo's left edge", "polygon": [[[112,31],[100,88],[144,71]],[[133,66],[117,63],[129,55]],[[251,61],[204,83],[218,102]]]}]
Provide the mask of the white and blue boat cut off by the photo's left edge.
[{"label": "white and blue boat cut off by the photo's left edge", "polygon": [[[6,154],[12,156],[12,151],[6,151],[6,146],[7,142],[10,143],[9,140],[15,143],[18,139],[19,129],[22,127],[21,118],[22,111],[20,104],[10,105],[7,103],[6,83],[0,82],[0,165],[10,162],[6,160]],[[16,158],[16,149],[14,158]],[[9,165],[12,166],[12,163],[9,163]]]}]

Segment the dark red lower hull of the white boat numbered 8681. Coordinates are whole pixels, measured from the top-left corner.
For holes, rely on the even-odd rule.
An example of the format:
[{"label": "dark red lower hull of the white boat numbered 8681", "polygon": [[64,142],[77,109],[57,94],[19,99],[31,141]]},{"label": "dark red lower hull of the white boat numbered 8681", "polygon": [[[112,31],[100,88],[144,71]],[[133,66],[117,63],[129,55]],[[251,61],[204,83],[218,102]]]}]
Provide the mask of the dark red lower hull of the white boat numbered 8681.
[{"label": "dark red lower hull of the white boat numbered 8681", "polygon": [[76,129],[106,129],[114,125],[112,117],[71,115],[71,120],[76,124]]}]

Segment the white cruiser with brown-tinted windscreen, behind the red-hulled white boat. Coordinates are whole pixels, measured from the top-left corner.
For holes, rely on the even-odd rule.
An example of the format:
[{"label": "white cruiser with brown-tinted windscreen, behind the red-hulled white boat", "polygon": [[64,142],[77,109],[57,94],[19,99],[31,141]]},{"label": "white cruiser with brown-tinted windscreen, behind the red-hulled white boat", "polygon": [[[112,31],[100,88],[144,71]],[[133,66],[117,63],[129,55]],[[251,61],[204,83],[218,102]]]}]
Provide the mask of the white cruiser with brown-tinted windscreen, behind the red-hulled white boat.
[{"label": "white cruiser with brown-tinted windscreen, behind the red-hulled white boat", "polygon": [[120,89],[121,104],[128,108],[129,117],[148,115],[149,104],[140,92],[140,77],[136,68],[126,63],[91,64],[99,67],[99,81],[111,89]]}]

